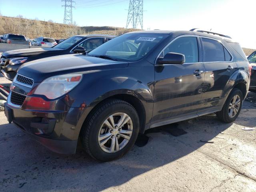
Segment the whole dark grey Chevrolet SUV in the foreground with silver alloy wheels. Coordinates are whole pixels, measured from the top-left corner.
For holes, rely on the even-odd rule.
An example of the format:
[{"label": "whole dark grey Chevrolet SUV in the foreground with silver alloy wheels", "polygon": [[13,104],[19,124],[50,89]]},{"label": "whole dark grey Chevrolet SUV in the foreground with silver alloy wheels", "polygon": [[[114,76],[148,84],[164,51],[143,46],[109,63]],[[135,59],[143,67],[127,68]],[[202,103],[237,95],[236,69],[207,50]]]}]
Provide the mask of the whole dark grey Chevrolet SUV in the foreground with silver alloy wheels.
[{"label": "whole dark grey Chevrolet SUV in the foreground with silver alloy wheels", "polygon": [[109,161],[149,128],[214,112],[234,121],[249,83],[248,60],[227,36],[131,32],[88,54],[22,65],[5,114],[54,152],[74,154],[80,138],[88,154]]}]

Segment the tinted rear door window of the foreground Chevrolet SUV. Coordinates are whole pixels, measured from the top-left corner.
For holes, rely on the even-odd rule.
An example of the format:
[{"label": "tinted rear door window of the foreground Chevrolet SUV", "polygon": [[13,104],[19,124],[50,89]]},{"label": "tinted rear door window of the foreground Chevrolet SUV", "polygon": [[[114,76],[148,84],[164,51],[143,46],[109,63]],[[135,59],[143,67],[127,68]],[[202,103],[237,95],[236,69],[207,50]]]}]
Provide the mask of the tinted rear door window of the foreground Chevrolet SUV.
[{"label": "tinted rear door window of the foreground Chevrolet SUV", "polygon": [[225,61],[224,48],[220,42],[206,38],[202,38],[202,41],[205,62]]}]

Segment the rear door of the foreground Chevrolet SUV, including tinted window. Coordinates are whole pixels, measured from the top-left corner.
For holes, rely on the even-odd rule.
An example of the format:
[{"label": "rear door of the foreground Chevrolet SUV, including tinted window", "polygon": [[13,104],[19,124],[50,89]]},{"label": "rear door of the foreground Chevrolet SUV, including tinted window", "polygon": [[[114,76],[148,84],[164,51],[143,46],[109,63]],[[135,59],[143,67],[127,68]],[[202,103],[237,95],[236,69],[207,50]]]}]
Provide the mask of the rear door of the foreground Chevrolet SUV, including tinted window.
[{"label": "rear door of the foreground Chevrolet SUV, including tinted window", "polygon": [[236,70],[236,63],[228,49],[218,40],[201,37],[205,78],[200,112],[216,111],[221,107],[224,88]]}]

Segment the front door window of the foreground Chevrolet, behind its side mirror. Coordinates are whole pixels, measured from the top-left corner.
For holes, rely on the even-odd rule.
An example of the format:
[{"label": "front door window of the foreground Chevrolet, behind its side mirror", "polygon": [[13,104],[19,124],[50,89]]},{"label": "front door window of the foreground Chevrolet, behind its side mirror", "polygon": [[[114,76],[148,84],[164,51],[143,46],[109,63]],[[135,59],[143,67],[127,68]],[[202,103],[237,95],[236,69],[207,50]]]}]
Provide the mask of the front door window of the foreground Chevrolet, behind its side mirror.
[{"label": "front door window of the foreground Chevrolet, behind its side mirror", "polygon": [[198,43],[196,37],[181,37],[164,49],[161,56],[167,53],[180,53],[185,56],[185,63],[198,62]]}]

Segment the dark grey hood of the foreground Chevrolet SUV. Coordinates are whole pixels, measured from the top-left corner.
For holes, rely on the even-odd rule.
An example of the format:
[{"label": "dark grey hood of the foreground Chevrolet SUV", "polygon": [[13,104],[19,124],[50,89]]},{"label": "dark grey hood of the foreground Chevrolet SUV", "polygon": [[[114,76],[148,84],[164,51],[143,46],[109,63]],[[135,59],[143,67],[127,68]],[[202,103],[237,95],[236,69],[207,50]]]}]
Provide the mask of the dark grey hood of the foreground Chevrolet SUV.
[{"label": "dark grey hood of the foreground Chevrolet SUV", "polygon": [[68,54],[27,62],[20,67],[18,74],[34,79],[34,82],[42,82],[42,80],[56,75],[125,68],[127,66],[128,62]]}]

